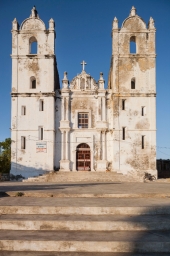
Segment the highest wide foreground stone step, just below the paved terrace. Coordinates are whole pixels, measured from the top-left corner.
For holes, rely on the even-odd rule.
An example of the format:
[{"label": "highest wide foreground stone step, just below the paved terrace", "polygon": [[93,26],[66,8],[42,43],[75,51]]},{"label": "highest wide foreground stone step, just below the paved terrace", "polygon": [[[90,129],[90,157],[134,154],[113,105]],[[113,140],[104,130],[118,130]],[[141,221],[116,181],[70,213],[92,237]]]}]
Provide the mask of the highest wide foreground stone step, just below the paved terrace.
[{"label": "highest wide foreground stone step, just below the paved terrace", "polygon": [[0,199],[0,214],[170,214],[170,198],[4,197]]}]

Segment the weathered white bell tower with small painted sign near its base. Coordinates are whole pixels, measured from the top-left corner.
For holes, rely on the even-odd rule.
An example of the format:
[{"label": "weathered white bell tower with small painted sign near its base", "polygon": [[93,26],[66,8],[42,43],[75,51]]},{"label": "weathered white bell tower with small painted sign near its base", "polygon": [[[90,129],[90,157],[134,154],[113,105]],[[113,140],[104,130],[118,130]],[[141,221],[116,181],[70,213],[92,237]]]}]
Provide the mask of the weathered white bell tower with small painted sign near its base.
[{"label": "weathered white bell tower with small painted sign near its base", "polygon": [[35,6],[19,26],[12,23],[11,173],[36,176],[54,168],[55,23],[49,28]]}]

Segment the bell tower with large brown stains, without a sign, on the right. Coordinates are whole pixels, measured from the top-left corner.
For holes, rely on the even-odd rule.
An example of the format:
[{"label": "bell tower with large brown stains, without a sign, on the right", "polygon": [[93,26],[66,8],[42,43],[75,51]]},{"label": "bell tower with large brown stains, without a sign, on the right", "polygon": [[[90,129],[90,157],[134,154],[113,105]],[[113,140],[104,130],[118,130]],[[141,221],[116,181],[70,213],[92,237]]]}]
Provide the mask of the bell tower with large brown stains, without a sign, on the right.
[{"label": "bell tower with large brown stains, without a sign, on the right", "polygon": [[[112,58],[108,89],[112,94],[114,170],[156,171],[155,26],[148,26],[132,7],[118,28],[112,27]],[[138,172],[139,171],[139,172]]]}]

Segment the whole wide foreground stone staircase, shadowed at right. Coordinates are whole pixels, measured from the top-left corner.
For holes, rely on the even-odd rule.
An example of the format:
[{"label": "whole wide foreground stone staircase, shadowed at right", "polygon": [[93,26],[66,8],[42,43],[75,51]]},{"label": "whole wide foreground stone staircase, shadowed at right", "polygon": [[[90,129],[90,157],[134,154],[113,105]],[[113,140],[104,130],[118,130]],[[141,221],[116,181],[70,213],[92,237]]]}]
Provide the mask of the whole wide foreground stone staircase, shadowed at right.
[{"label": "whole wide foreground stone staircase, shadowed at right", "polygon": [[0,255],[169,256],[170,198],[1,197]]}]

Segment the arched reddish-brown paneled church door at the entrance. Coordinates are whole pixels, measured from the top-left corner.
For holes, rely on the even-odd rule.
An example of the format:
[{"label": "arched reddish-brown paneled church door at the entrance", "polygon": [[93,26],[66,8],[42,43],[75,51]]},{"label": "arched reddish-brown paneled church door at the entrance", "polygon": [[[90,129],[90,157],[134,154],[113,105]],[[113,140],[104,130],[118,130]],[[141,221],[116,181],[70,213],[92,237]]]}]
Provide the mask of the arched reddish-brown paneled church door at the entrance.
[{"label": "arched reddish-brown paneled church door at the entrance", "polygon": [[76,169],[77,171],[90,171],[90,147],[86,143],[81,143],[76,150]]}]

